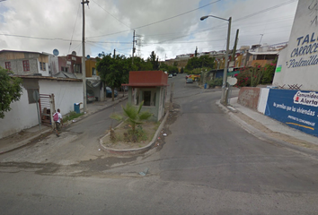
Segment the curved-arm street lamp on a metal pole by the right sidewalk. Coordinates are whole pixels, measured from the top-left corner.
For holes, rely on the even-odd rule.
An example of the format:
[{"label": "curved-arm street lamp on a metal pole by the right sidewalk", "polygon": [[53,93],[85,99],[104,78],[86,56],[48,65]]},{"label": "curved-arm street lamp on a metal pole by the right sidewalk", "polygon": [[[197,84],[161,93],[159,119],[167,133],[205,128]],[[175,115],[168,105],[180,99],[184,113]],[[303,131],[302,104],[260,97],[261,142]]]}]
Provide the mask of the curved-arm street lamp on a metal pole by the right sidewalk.
[{"label": "curved-arm street lamp on a metal pole by the right sidewalk", "polygon": [[221,102],[226,106],[227,105],[227,93],[226,93],[226,79],[227,79],[227,64],[228,64],[228,49],[230,46],[230,36],[231,36],[231,22],[232,22],[232,17],[230,17],[228,20],[223,19],[221,17],[217,17],[214,15],[206,15],[206,16],[202,16],[200,18],[200,21],[204,21],[205,19],[207,19],[208,17],[213,17],[219,20],[224,20],[228,22],[228,30],[227,30],[227,39],[226,39],[226,53],[225,53],[225,70],[223,73],[223,84],[222,84],[222,97],[221,97]]}]

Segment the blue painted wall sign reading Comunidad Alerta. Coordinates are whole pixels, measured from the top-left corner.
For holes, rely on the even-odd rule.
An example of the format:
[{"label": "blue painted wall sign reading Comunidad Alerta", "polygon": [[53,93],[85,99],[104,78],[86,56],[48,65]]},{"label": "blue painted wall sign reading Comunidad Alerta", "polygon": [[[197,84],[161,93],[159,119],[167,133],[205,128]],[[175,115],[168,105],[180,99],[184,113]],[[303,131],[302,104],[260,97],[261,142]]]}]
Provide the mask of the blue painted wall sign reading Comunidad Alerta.
[{"label": "blue painted wall sign reading Comunidad Alerta", "polygon": [[265,115],[318,136],[318,92],[270,89]]}]

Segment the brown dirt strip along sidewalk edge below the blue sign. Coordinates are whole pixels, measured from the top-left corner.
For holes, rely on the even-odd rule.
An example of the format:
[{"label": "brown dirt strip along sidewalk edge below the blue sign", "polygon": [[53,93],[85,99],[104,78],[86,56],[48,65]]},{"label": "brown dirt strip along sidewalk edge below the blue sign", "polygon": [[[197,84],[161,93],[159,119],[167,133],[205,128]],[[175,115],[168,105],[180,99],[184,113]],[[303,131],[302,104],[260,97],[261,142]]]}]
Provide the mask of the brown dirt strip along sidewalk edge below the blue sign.
[{"label": "brown dirt strip along sidewalk edge below the blue sign", "polygon": [[304,140],[296,139],[295,137],[288,136],[284,133],[273,132],[269,128],[265,127],[264,125],[261,125],[261,123],[253,120],[251,117],[246,116],[240,112],[234,113],[234,115],[240,117],[244,122],[246,122],[249,125],[252,125],[256,129],[260,130],[262,133],[267,133],[267,134],[269,134],[269,136],[271,136],[275,139],[278,139],[278,140],[281,140],[284,142],[289,142],[289,143],[294,144],[296,146],[301,146],[301,147],[305,147],[305,148],[308,148],[311,150],[318,151],[318,145],[315,145],[311,142],[305,142]]}]

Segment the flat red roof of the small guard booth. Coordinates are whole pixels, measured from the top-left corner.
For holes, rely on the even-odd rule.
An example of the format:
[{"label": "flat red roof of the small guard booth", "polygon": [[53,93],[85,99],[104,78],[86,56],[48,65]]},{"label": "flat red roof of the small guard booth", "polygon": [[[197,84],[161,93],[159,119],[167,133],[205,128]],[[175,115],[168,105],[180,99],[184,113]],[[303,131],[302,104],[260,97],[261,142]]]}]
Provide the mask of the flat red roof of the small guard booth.
[{"label": "flat red roof of the small guard booth", "polygon": [[122,85],[130,87],[168,86],[168,74],[163,71],[130,71],[129,83]]}]

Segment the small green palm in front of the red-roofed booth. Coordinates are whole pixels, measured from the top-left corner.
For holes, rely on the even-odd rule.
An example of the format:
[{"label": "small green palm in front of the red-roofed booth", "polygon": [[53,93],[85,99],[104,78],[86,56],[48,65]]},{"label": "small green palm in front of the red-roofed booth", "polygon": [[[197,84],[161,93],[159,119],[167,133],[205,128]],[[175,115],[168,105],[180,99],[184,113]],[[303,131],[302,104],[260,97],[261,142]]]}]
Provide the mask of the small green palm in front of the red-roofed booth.
[{"label": "small green palm in front of the red-roofed booth", "polygon": [[140,112],[143,104],[144,101],[139,104],[139,107],[135,107],[130,103],[127,103],[126,107],[121,106],[124,110],[123,116],[115,113],[112,114],[110,118],[116,119],[118,121],[123,121],[124,116],[126,116],[126,122],[128,123],[128,125],[131,125],[132,133],[135,133],[136,125],[143,124],[143,121],[147,120],[150,116],[153,116],[153,114],[149,113],[148,111]]}]

